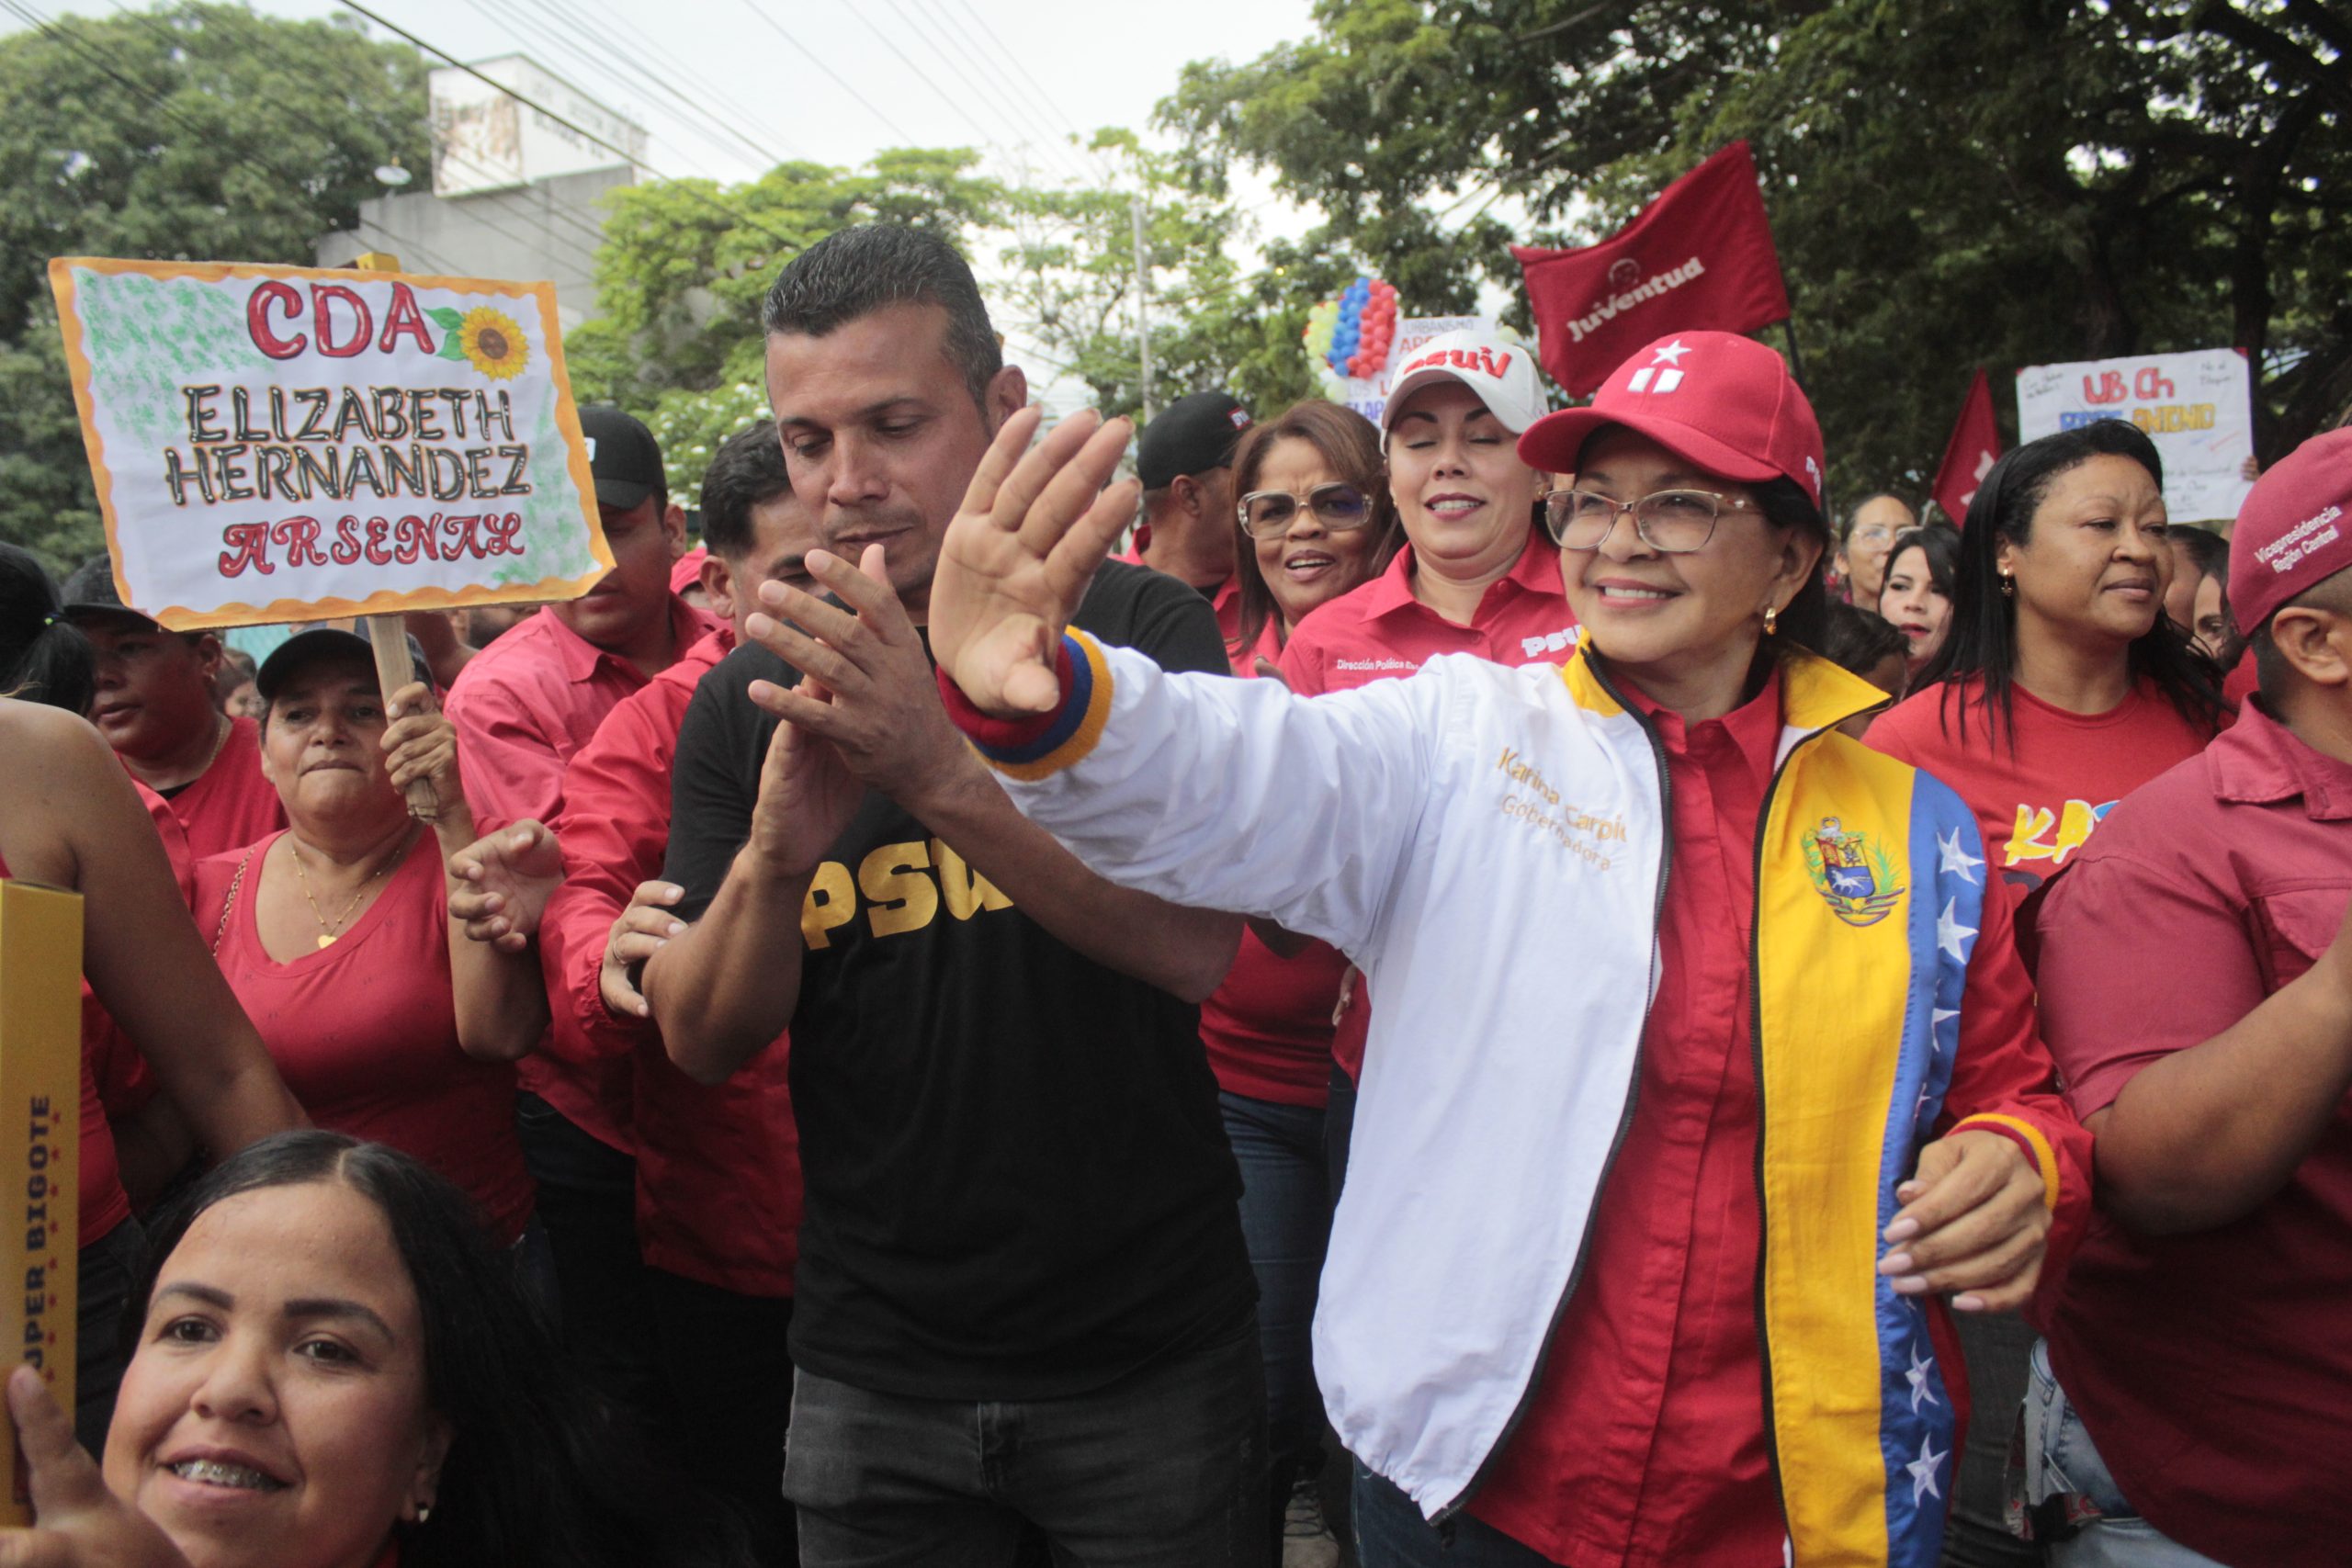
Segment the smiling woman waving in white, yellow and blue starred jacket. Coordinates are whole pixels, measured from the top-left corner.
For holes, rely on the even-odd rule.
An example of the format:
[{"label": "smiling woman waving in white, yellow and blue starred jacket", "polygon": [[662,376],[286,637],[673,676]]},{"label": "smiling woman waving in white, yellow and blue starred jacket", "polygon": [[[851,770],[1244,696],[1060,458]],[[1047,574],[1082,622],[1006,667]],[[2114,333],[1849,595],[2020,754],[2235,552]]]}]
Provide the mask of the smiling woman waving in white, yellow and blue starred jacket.
[{"label": "smiling woman waving in white, yellow and blue starred jacket", "polygon": [[[1134,505],[1122,425],[1007,423],[941,548],[943,691],[1112,882],[1381,992],[1315,1371],[1367,1568],[1929,1563],[1929,1302],[2018,1307],[2089,1138],[1966,804],[1837,733],[1820,430],[1686,331],[1522,437],[1566,668],[1296,701],[1061,635]],[[823,733],[826,715],[807,724]]]}]

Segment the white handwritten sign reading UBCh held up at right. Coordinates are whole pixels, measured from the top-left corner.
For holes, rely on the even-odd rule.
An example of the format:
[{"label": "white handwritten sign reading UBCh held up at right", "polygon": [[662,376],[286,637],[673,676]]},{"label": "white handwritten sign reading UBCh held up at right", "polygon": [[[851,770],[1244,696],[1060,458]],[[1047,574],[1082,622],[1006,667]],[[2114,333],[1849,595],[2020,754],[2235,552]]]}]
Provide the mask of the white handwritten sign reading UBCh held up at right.
[{"label": "white handwritten sign reading UBCh held up at right", "polygon": [[2176,522],[2237,517],[2239,501],[2253,489],[2241,473],[2253,456],[2253,388],[2246,355],[2234,348],[2027,364],[2018,371],[2018,440],[2096,418],[2129,421],[2157,444],[2164,505]]}]

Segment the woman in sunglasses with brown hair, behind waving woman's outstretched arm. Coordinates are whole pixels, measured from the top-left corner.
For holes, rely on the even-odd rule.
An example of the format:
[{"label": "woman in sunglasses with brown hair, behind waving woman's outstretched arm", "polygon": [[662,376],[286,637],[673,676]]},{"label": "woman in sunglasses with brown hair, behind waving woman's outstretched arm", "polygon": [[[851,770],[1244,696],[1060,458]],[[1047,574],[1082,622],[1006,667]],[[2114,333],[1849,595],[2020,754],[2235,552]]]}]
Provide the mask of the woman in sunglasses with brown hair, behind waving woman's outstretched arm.
[{"label": "woman in sunglasses with brown hair, behind waving woman's outstretched arm", "polygon": [[[1399,531],[1381,477],[1381,433],[1336,402],[1315,397],[1254,425],[1235,447],[1232,482],[1242,496],[1232,672],[1249,677],[1282,656],[1308,611],[1378,576]],[[1312,1474],[1322,1432],[1308,1326],[1331,1234],[1324,1103],[1345,971],[1348,959],[1327,943],[1244,929],[1225,983],[1200,1004],[1258,1279],[1272,1559],[1282,1556],[1291,1486]]]}]

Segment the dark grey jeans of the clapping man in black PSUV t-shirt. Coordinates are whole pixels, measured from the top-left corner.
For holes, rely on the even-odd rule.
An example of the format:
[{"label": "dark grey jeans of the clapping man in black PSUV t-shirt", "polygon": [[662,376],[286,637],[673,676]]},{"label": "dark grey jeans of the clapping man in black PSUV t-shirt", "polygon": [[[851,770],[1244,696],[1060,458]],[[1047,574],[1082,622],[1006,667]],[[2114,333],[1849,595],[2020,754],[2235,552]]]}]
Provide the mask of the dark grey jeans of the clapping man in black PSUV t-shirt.
[{"label": "dark grey jeans of the clapping man in black PSUV t-shirt", "polygon": [[875,1394],[800,1368],[783,1493],[802,1568],[1270,1568],[1265,1375],[1244,1319],[1091,1394]]}]

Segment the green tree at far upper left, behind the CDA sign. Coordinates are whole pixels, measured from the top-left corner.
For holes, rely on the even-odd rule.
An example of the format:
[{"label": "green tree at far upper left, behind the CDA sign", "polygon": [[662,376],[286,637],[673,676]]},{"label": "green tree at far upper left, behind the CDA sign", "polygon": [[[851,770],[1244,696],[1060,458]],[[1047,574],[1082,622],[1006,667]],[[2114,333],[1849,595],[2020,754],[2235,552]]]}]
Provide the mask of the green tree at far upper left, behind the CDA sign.
[{"label": "green tree at far upper left, behind the CDA sign", "polygon": [[0,38],[0,538],[103,545],[49,256],[308,266],[388,162],[428,167],[426,71],[355,26],[181,0]]}]

